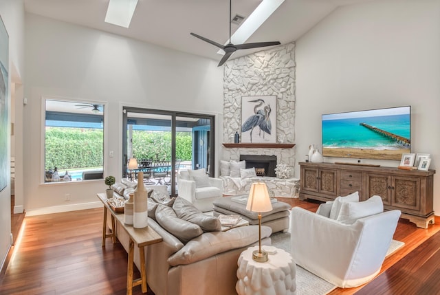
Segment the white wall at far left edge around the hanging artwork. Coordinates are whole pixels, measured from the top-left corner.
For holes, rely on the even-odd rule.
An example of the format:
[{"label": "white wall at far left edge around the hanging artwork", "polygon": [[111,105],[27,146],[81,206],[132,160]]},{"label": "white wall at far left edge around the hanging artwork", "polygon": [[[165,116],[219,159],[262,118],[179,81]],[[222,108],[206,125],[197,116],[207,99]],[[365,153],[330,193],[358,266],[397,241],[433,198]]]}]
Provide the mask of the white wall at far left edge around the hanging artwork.
[{"label": "white wall at far left edge around the hanging artwork", "polygon": [[[9,34],[9,81],[10,92],[17,80],[20,80],[23,73],[23,25],[24,9],[22,0],[2,0],[0,1],[0,15]],[[17,94],[16,94],[17,95]],[[10,96],[8,105],[11,106]],[[10,113],[9,113],[9,118]],[[10,122],[10,120],[8,120]],[[10,132],[10,131],[9,131]],[[8,138],[8,142],[10,139]],[[10,146],[8,144],[8,156],[10,156]],[[9,158],[9,157],[8,157]],[[8,171],[10,175],[10,171]],[[10,177],[8,186],[0,192],[0,266],[3,266],[4,259],[10,248],[11,233],[11,196],[10,196]]]}]

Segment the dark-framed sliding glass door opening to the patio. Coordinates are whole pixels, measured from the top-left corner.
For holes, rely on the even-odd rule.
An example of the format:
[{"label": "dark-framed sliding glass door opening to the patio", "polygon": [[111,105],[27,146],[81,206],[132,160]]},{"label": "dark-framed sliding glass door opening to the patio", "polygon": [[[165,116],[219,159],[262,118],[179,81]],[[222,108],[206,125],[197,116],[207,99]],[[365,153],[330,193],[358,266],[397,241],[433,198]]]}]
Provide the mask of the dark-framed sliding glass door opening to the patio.
[{"label": "dark-framed sliding glass door opening to the patio", "polygon": [[177,195],[179,171],[214,175],[214,116],[124,107],[122,137],[124,177],[142,171],[145,184],[165,184]]}]

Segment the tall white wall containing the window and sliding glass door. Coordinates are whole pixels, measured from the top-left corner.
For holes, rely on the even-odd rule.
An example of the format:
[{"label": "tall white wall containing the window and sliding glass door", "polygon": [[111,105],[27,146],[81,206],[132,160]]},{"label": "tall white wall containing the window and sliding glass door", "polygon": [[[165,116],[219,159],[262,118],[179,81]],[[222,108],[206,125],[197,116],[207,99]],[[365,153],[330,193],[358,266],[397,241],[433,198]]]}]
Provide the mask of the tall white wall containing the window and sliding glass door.
[{"label": "tall white wall containing the window and sliding glass door", "polygon": [[[223,111],[223,70],[215,61],[35,14],[26,14],[25,41],[24,205],[30,214],[98,204],[96,193],[106,187],[103,180],[41,184],[42,97],[106,104],[104,176],[116,179],[122,167],[122,105]],[[107,157],[109,151],[115,157]],[[65,201],[66,193],[70,201]]]}]

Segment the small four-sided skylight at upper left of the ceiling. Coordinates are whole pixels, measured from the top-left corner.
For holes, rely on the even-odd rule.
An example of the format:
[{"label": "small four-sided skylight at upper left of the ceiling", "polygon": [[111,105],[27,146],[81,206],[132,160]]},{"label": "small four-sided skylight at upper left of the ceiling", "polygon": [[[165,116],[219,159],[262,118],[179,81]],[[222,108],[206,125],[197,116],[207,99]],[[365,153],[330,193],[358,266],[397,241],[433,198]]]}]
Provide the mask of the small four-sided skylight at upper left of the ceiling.
[{"label": "small four-sided skylight at upper left of the ceiling", "polygon": [[129,28],[138,0],[110,0],[105,22]]}]

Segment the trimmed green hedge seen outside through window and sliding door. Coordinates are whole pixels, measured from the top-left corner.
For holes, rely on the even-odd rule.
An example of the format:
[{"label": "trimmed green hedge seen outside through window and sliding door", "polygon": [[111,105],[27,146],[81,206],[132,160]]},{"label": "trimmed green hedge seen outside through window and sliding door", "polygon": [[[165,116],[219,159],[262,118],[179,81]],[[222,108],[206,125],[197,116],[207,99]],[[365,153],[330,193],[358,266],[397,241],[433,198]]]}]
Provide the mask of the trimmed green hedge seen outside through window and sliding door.
[{"label": "trimmed green hedge seen outside through window and sliding door", "polygon": [[[46,129],[45,169],[60,170],[103,166],[101,129]],[[176,133],[176,159],[190,161],[191,133]],[[170,160],[171,133],[133,131],[133,154],[137,159]]]}]

